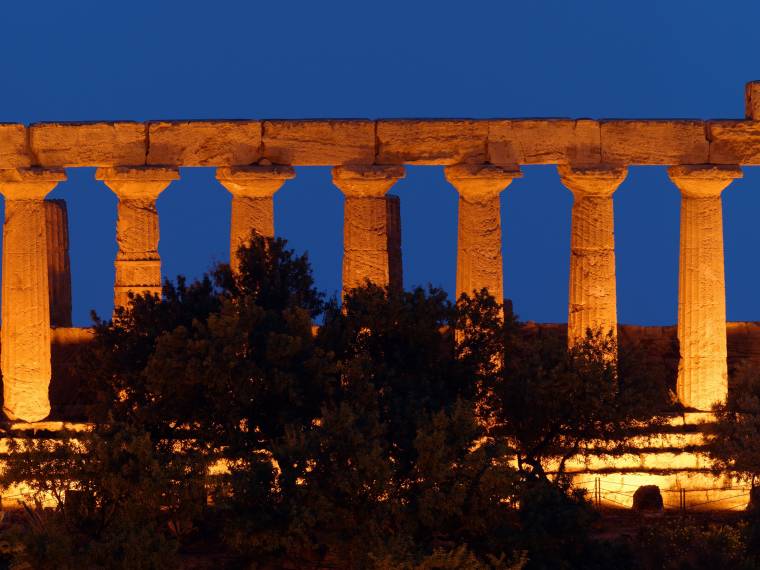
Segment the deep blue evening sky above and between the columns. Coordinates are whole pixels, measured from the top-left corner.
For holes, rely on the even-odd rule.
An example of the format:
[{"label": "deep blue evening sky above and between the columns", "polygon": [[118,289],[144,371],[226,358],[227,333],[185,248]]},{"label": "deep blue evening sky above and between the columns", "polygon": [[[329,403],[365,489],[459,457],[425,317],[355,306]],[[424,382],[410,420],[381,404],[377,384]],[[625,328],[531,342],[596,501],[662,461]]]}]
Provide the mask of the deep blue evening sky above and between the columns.
[{"label": "deep blue evening sky above and between the columns", "polygon": [[[304,117],[739,118],[760,79],[760,3],[709,0],[13,2],[0,8],[0,121]],[[505,295],[523,319],[565,321],[571,194],[554,167],[504,193]],[[110,314],[116,198],[94,169],[51,197],[71,222],[74,321]],[[164,273],[226,261],[229,197],[185,169],[159,200]],[[456,194],[410,167],[407,285],[454,288]],[[678,192],[632,168],[615,195],[621,322],[676,319]],[[340,285],[342,197],[301,168],[275,200],[277,233]],[[724,194],[728,317],[760,320],[760,168]]]}]

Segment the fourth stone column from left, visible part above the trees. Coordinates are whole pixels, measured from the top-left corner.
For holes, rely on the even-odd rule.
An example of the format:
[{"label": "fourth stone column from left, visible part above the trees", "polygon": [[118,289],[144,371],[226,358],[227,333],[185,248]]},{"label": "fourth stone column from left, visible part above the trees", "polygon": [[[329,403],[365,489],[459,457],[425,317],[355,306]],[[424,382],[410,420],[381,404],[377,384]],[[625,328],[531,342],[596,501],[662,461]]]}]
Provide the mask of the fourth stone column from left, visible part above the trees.
[{"label": "fourth stone column from left, visible part above the trees", "polygon": [[343,291],[367,280],[381,287],[391,281],[391,236],[385,194],[404,177],[403,166],[336,166],[333,183],[345,195],[343,205]]}]

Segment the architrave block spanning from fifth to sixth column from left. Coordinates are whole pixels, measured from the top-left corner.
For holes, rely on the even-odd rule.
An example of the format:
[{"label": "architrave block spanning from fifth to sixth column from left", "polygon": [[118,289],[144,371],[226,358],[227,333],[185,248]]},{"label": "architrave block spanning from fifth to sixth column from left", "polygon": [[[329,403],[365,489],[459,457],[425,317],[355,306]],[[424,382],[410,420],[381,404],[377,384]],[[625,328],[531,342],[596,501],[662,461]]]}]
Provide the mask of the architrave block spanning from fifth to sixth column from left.
[{"label": "architrave block spanning from fifth to sixth column from left", "polygon": [[488,160],[499,165],[599,164],[599,122],[589,119],[491,121]]}]

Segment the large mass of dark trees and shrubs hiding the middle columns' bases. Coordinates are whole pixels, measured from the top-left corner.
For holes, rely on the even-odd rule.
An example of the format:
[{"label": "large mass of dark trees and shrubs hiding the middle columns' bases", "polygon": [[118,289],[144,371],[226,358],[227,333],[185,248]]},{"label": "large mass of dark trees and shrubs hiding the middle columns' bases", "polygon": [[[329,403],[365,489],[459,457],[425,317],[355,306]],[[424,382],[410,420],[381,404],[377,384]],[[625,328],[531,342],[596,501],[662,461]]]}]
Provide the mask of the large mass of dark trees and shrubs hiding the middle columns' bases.
[{"label": "large mass of dark trees and shrubs hiding the middle columns' bases", "polygon": [[172,568],[204,541],[243,567],[603,559],[561,474],[646,416],[646,366],[531,336],[485,292],[368,283],[339,306],[283,240],[239,260],[95,318],[92,430],[20,441],[0,476],[52,499],[19,539],[35,568]]}]

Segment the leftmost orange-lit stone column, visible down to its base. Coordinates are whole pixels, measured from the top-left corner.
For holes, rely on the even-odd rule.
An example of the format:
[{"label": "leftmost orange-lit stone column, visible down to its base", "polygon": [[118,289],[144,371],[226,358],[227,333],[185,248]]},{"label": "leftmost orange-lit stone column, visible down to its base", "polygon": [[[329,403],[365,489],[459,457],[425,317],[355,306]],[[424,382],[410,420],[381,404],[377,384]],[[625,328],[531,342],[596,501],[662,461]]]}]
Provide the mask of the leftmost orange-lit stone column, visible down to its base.
[{"label": "leftmost orange-lit stone column, visible down to its base", "polygon": [[3,411],[12,420],[50,413],[50,299],[44,198],[63,170],[0,170],[3,226]]}]

